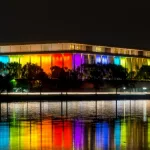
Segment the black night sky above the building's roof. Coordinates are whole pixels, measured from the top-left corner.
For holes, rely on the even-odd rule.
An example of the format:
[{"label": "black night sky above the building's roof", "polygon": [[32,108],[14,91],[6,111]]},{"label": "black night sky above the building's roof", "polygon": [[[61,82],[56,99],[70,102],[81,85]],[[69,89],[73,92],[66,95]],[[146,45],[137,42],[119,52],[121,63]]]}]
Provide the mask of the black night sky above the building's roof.
[{"label": "black night sky above the building's roof", "polygon": [[4,0],[0,6],[1,43],[62,40],[150,49],[148,4]]}]

